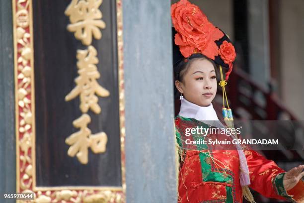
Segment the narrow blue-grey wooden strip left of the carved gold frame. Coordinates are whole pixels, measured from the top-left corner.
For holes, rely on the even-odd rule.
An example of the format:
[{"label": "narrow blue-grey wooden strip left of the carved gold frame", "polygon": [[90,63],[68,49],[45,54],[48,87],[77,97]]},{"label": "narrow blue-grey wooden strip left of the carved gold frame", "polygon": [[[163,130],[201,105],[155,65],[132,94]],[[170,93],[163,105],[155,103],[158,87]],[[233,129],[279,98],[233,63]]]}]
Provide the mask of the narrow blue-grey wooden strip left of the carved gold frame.
[{"label": "narrow blue-grey wooden strip left of the carved gold frame", "polygon": [[0,1],[0,194],[16,191],[14,65],[11,1]]}]

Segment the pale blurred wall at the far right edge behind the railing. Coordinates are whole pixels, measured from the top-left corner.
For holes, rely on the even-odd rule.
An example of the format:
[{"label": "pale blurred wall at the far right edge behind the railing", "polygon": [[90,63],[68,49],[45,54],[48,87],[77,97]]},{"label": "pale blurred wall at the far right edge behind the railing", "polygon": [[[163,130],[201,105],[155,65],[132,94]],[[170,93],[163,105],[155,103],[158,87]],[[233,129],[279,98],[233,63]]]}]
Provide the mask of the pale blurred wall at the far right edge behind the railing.
[{"label": "pale blurred wall at the far right edge behind the railing", "polygon": [[280,0],[281,95],[304,120],[304,0]]}]

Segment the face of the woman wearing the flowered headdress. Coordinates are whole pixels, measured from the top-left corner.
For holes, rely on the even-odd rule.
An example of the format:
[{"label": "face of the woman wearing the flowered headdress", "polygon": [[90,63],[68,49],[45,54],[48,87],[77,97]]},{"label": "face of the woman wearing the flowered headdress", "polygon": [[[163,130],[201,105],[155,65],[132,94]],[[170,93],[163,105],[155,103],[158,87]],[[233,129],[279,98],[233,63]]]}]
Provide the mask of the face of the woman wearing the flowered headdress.
[{"label": "face of the woman wearing the flowered headdress", "polygon": [[183,77],[175,81],[177,90],[184,98],[199,106],[208,106],[217,93],[217,79],[213,64],[206,59],[192,62]]}]

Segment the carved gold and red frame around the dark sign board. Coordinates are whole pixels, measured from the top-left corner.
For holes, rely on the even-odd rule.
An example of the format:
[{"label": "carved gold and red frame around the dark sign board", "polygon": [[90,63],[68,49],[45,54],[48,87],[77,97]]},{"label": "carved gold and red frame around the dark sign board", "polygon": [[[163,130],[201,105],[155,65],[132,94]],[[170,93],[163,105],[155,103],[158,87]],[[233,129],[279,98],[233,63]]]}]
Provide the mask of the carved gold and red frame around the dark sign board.
[{"label": "carved gold and red frame around the dark sign board", "polygon": [[116,0],[122,187],[36,187],[32,12],[32,0],[12,0],[15,73],[16,192],[34,192],[36,203],[123,203],[125,202],[126,183],[122,2],[121,0]]}]

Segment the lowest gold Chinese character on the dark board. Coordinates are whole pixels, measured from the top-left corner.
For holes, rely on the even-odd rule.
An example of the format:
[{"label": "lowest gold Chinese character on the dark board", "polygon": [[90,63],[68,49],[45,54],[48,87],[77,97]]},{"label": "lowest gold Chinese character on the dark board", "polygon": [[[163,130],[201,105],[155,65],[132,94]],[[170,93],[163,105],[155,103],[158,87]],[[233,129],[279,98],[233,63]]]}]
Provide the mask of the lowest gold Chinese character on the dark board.
[{"label": "lowest gold Chinese character on the dark board", "polygon": [[92,135],[91,130],[87,127],[89,122],[91,122],[90,116],[86,113],[82,114],[73,121],[73,125],[80,128],[79,131],[66,139],[66,144],[71,145],[68,155],[71,157],[76,155],[81,164],[87,164],[88,162],[89,147],[94,153],[102,153],[105,152],[108,141],[105,132]]}]

